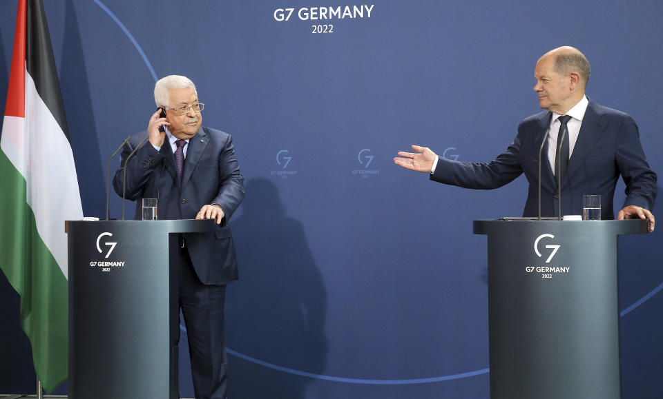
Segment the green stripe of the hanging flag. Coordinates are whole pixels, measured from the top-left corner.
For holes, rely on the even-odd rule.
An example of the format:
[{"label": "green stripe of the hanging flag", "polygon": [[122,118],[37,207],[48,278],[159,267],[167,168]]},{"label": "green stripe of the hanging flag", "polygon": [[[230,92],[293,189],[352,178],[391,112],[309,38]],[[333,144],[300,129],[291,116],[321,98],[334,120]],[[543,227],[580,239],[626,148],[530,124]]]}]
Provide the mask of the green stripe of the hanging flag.
[{"label": "green stripe of the hanging flag", "polygon": [[0,181],[0,269],[21,296],[21,327],[32,344],[35,371],[50,392],[68,374],[67,280],[37,232],[25,178],[2,151]]}]

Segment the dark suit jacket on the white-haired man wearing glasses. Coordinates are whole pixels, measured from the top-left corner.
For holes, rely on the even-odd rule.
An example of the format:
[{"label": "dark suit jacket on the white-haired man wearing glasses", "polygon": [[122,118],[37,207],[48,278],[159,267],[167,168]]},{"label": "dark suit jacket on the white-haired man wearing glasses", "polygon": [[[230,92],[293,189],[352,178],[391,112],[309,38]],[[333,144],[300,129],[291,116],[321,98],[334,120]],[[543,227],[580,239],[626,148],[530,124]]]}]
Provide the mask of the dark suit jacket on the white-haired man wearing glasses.
[{"label": "dark suit jacket on the white-haired man wearing glasses", "polygon": [[[115,172],[113,187],[122,196],[126,167],[126,198],[158,198],[160,219],[193,219],[203,205],[222,207],[224,219],[213,232],[185,234],[191,263],[204,284],[222,285],[238,278],[237,259],[228,221],[244,198],[244,178],[235,158],[232,137],[220,130],[201,127],[189,140],[182,181],[168,138],[157,151],[146,141],[126,163],[136,145],[147,136],[142,132],[124,145],[122,163]],[[136,204],[141,218],[142,201]]]}]

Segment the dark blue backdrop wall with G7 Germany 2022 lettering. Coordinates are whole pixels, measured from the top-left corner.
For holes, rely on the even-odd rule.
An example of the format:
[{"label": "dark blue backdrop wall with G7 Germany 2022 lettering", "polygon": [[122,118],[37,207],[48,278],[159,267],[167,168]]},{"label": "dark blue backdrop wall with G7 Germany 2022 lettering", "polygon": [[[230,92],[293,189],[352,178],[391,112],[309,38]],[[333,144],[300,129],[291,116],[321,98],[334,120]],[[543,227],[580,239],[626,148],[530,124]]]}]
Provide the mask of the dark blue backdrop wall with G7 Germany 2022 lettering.
[{"label": "dark blue backdrop wall with G7 Germany 2022 lettering", "polygon": [[[15,3],[0,6],[1,95]],[[106,159],[146,127],[155,78],[191,77],[204,125],[233,134],[247,182],[231,222],[233,398],[488,398],[486,238],[472,219],[521,214],[526,182],[461,190],[391,159],[416,143],[490,161],[538,112],[544,52],[582,50],[588,95],[635,118],[663,171],[660,0],[383,0],[332,4],[370,17],[314,21],[298,11],[319,2],[45,3],[86,215],[104,214]],[[277,21],[278,8],[294,12]],[[121,207],[113,196],[111,216]],[[621,239],[621,309],[662,287],[660,236]],[[33,391],[4,277],[0,303],[0,392]],[[663,395],[662,304],[622,317],[624,398]],[[180,378],[193,396],[186,362]]]}]

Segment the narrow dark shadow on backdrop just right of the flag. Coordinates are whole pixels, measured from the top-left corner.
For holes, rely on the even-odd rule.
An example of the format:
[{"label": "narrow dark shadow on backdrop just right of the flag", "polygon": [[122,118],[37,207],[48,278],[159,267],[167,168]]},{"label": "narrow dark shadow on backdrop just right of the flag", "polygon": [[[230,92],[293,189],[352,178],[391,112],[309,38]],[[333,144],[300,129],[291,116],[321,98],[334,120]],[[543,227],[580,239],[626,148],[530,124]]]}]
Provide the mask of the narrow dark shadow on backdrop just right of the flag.
[{"label": "narrow dark shadow on backdrop just right of the flag", "polygon": [[[64,47],[60,67],[62,100],[67,113],[71,147],[77,167],[81,203],[85,216],[106,215],[106,173],[99,154],[99,141],[92,108],[81,33],[73,0],[66,1]],[[75,115],[75,117],[74,117]],[[101,161],[100,161],[101,160]],[[102,165],[103,164],[103,165]]]}]

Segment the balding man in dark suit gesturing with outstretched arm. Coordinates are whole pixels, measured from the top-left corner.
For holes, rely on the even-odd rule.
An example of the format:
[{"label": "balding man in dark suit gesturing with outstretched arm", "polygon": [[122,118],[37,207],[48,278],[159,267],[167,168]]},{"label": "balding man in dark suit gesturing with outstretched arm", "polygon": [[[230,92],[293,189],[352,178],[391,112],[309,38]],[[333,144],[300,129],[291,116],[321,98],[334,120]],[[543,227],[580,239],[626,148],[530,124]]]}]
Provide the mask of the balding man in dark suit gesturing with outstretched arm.
[{"label": "balding man in dark suit gesturing with outstretched arm", "polygon": [[[653,232],[650,210],[656,198],[656,174],[644,156],[637,125],[624,112],[588,101],[589,74],[587,59],[575,48],[561,47],[544,54],[535,68],[534,91],[539,106],[547,111],[523,120],[513,143],[490,163],[452,161],[417,145],[412,145],[414,152],[398,152],[394,163],[430,172],[431,180],[440,183],[482,190],[506,185],[524,173],[530,185],[523,216],[537,216],[537,158],[543,144],[541,216],[557,216],[559,180],[562,214],[581,214],[583,194],[599,194],[602,218],[615,218],[613,196],[621,175],[626,201],[617,218],[646,218]],[[544,143],[546,130],[549,134]]]}]

